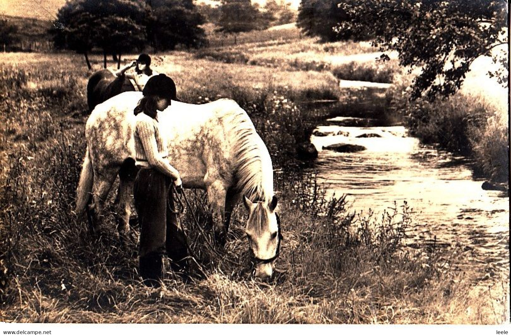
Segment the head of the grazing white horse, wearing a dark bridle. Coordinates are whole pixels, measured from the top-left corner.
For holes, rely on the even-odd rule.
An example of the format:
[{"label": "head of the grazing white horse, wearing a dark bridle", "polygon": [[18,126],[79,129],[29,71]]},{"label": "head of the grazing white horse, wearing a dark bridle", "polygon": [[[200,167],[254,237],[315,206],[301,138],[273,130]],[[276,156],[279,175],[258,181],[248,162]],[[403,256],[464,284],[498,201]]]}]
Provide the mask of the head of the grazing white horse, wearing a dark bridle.
[{"label": "head of the grazing white horse, wearing a dark bridle", "polygon": [[248,210],[248,220],[245,232],[255,261],[254,276],[268,279],[273,274],[273,265],[278,257],[282,234],[281,222],[275,213],[277,197],[271,202],[252,202],[243,197]]}]

